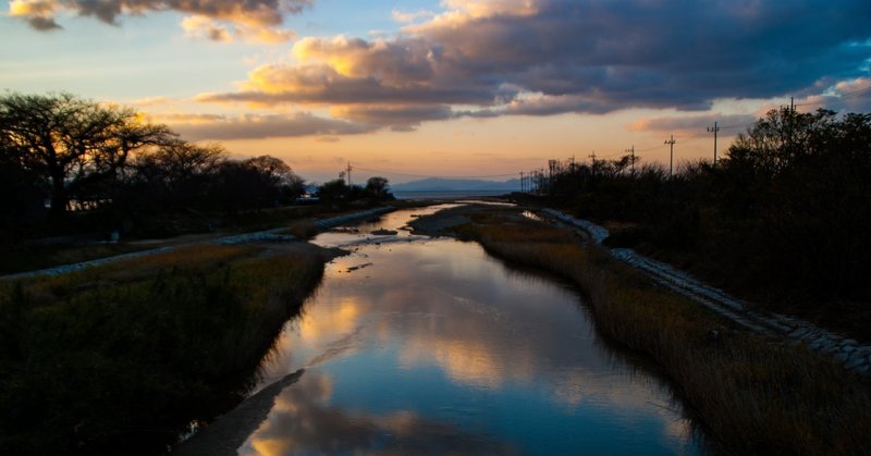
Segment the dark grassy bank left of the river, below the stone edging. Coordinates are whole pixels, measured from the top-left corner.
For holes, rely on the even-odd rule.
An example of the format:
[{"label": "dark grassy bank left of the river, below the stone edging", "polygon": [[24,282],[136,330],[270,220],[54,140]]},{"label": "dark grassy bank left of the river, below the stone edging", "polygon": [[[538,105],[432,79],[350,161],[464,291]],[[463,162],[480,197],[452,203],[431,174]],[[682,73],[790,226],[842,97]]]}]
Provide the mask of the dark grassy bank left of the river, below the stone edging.
[{"label": "dark grassy bank left of the river, below the stone edging", "polygon": [[197,246],[0,282],[0,454],[164,451],[241,399],[323,260]]}]

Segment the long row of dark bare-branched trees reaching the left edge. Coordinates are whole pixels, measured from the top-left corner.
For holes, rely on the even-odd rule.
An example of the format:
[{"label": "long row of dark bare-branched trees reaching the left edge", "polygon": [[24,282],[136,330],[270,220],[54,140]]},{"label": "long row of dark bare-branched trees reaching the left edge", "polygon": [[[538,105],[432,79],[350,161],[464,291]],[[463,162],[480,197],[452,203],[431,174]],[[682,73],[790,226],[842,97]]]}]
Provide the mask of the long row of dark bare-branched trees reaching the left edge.
[{"label": "long row of dark bare-branched trees reaching the left edge", "polygon": [[[292,202],[303,178],[283,161],[228,158],[135,111],[73,95],[0,96],[0,226],[98,209],[121,225],[155,214],[237,211]],[[106,220],[105,220],[106,222]],[[124,222],[124,223],[122,223]]]}]

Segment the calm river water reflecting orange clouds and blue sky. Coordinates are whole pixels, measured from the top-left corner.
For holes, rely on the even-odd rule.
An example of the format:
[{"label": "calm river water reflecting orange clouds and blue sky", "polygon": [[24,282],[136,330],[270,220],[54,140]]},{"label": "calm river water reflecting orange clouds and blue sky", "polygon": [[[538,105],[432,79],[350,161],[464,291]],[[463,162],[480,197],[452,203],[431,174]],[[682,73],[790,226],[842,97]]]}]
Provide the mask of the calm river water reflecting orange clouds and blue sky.
[{"label": "calm river water reflecting orange clouds and blue sky", "polygon": [[[604,345],[577,293],[473,243],[368,231],[328,266],[262,386],[305,368],[242,455],[702,453],[659,380]],[[375,244],[378,243],[378,244]]]}]

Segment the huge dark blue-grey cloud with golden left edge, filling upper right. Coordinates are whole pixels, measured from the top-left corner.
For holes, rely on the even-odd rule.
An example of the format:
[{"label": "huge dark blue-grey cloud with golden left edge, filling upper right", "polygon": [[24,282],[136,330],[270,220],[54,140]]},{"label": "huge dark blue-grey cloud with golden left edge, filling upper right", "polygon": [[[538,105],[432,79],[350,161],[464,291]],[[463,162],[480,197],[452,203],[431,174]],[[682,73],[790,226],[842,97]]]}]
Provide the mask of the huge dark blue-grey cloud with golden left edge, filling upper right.
[{"label": "huge dark blue-grey cloud with golden left edge, filling upper right", "polygon": [[307,38],[294,47],[300,63],[265,65],[245,90],[200,99],[451,104],[477,116],[699,111],[855,78],[871,58],[867,0],[445,4],[392,39]]}]

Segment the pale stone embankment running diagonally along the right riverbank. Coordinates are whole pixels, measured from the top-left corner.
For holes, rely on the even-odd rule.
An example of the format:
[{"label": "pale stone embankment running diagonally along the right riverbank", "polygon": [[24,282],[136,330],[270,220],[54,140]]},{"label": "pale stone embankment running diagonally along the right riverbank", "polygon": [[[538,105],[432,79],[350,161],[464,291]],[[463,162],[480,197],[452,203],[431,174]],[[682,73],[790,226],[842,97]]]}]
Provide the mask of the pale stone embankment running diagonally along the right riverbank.
[{"label": "pale stone embankment running diagonally along the right riverbank", "polygon": [[[593,243],[601,245],[608,230],[587,220],[543,209],[548,219],[580,230]],[[810,349],[837,359],[847,370],[871,377],[871,346],[843,337],[796,317],[753,310],[747,303],[731,297],[722,289],[707,285],[670,264],[639,255],[629,248],[612,248],[611,255],[650,276],[660,285],[679,293],[736,324],[764,335],[784,335]]]}]

